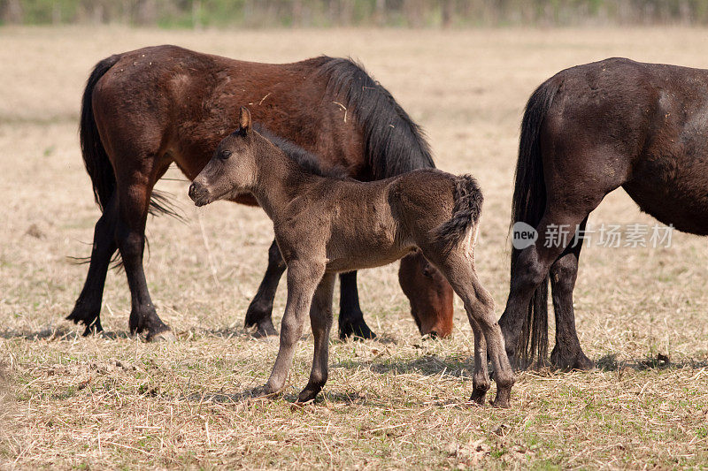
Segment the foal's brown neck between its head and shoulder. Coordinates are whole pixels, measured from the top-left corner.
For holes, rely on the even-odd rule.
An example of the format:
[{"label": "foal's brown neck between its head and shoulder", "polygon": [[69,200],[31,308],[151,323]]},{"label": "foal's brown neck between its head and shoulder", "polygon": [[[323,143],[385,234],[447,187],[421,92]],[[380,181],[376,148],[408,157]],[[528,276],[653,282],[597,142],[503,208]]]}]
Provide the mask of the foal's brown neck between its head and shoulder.
[{"label": "foal's brown neck between its head and shoulder", "polygon": [[281,148],[265,139],[254,149],[256,178],[251,194],[272,220],[283,215],[285,207],[298,195],[324,177],[304,171]]}]

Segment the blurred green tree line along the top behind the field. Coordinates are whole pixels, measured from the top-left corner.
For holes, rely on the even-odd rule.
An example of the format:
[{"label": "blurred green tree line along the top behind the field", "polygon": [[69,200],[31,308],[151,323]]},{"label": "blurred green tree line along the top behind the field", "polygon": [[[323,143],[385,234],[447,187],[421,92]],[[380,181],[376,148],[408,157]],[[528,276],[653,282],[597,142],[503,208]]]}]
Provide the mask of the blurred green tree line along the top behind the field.
[{"label": "blurred green tree line along the top behind the field", "polygon": [[708,0],[0,0],[0,24],[475,27],[708,24]]}]

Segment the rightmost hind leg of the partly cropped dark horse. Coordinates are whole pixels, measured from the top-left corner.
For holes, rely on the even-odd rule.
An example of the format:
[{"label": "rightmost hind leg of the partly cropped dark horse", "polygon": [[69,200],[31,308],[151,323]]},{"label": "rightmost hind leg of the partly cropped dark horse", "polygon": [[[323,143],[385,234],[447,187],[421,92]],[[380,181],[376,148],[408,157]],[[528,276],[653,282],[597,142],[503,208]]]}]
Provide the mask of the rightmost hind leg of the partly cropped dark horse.
[{"label": "rightmost hind leg of the partly cropped dark horse", "polygon": [[[588,218],[581,224],[585,230]],[[573,245],[575,247],[573,247]],[[573,288],[578,277],[578,260],[582,239],[573,241],[556,262],[550,266],[550,286],[553,296],[553,310],[556,314],[556,346],[550,353],[550,361],[562,369],[591,369],[595,365],[582,352],[578,334],[575,331],[575,311],[573,309]]]}]

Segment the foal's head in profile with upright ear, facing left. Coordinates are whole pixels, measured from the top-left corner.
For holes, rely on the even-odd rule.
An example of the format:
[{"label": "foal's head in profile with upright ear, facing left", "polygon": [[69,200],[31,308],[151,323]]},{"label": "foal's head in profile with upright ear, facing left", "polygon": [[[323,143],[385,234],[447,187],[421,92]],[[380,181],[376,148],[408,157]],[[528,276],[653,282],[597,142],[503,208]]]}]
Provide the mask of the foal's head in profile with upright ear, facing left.
[{"label": "foal's head in profile with upright ear, facing left", "polygon": [[212,160],[189,186],[196,206],[250,193],[256,183],[255,137],[250,111],[241,107],[239,128],[219,142]]}]

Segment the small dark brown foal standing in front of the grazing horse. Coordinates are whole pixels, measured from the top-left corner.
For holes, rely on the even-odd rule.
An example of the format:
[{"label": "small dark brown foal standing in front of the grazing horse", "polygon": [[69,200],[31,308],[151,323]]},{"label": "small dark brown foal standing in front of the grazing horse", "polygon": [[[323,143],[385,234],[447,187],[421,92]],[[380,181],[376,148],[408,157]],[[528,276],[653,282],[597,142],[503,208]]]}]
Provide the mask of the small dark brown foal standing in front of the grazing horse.
[{"label": "small dark brown foal standing in front of the grazing horse", "polygon": [[476,181],[433,169],[367,183],[322,177],[304,170],[253,130],[249,110],[241,109],[239,124],[189,186],[189,197],[204,206],[252,194],[273,220],[288,264],[288,301],[265,393],[284,388],[309,311],[314,358],[298,401],[314,399],[327,381],[335,275],[395,262],[418,247],[465,303],[474,332],[471,400],[483,404],[489,390],[489,347],[497,385],[494,405],[508,407],[513,372],[494,301],[474,271],[482,203]]}]

